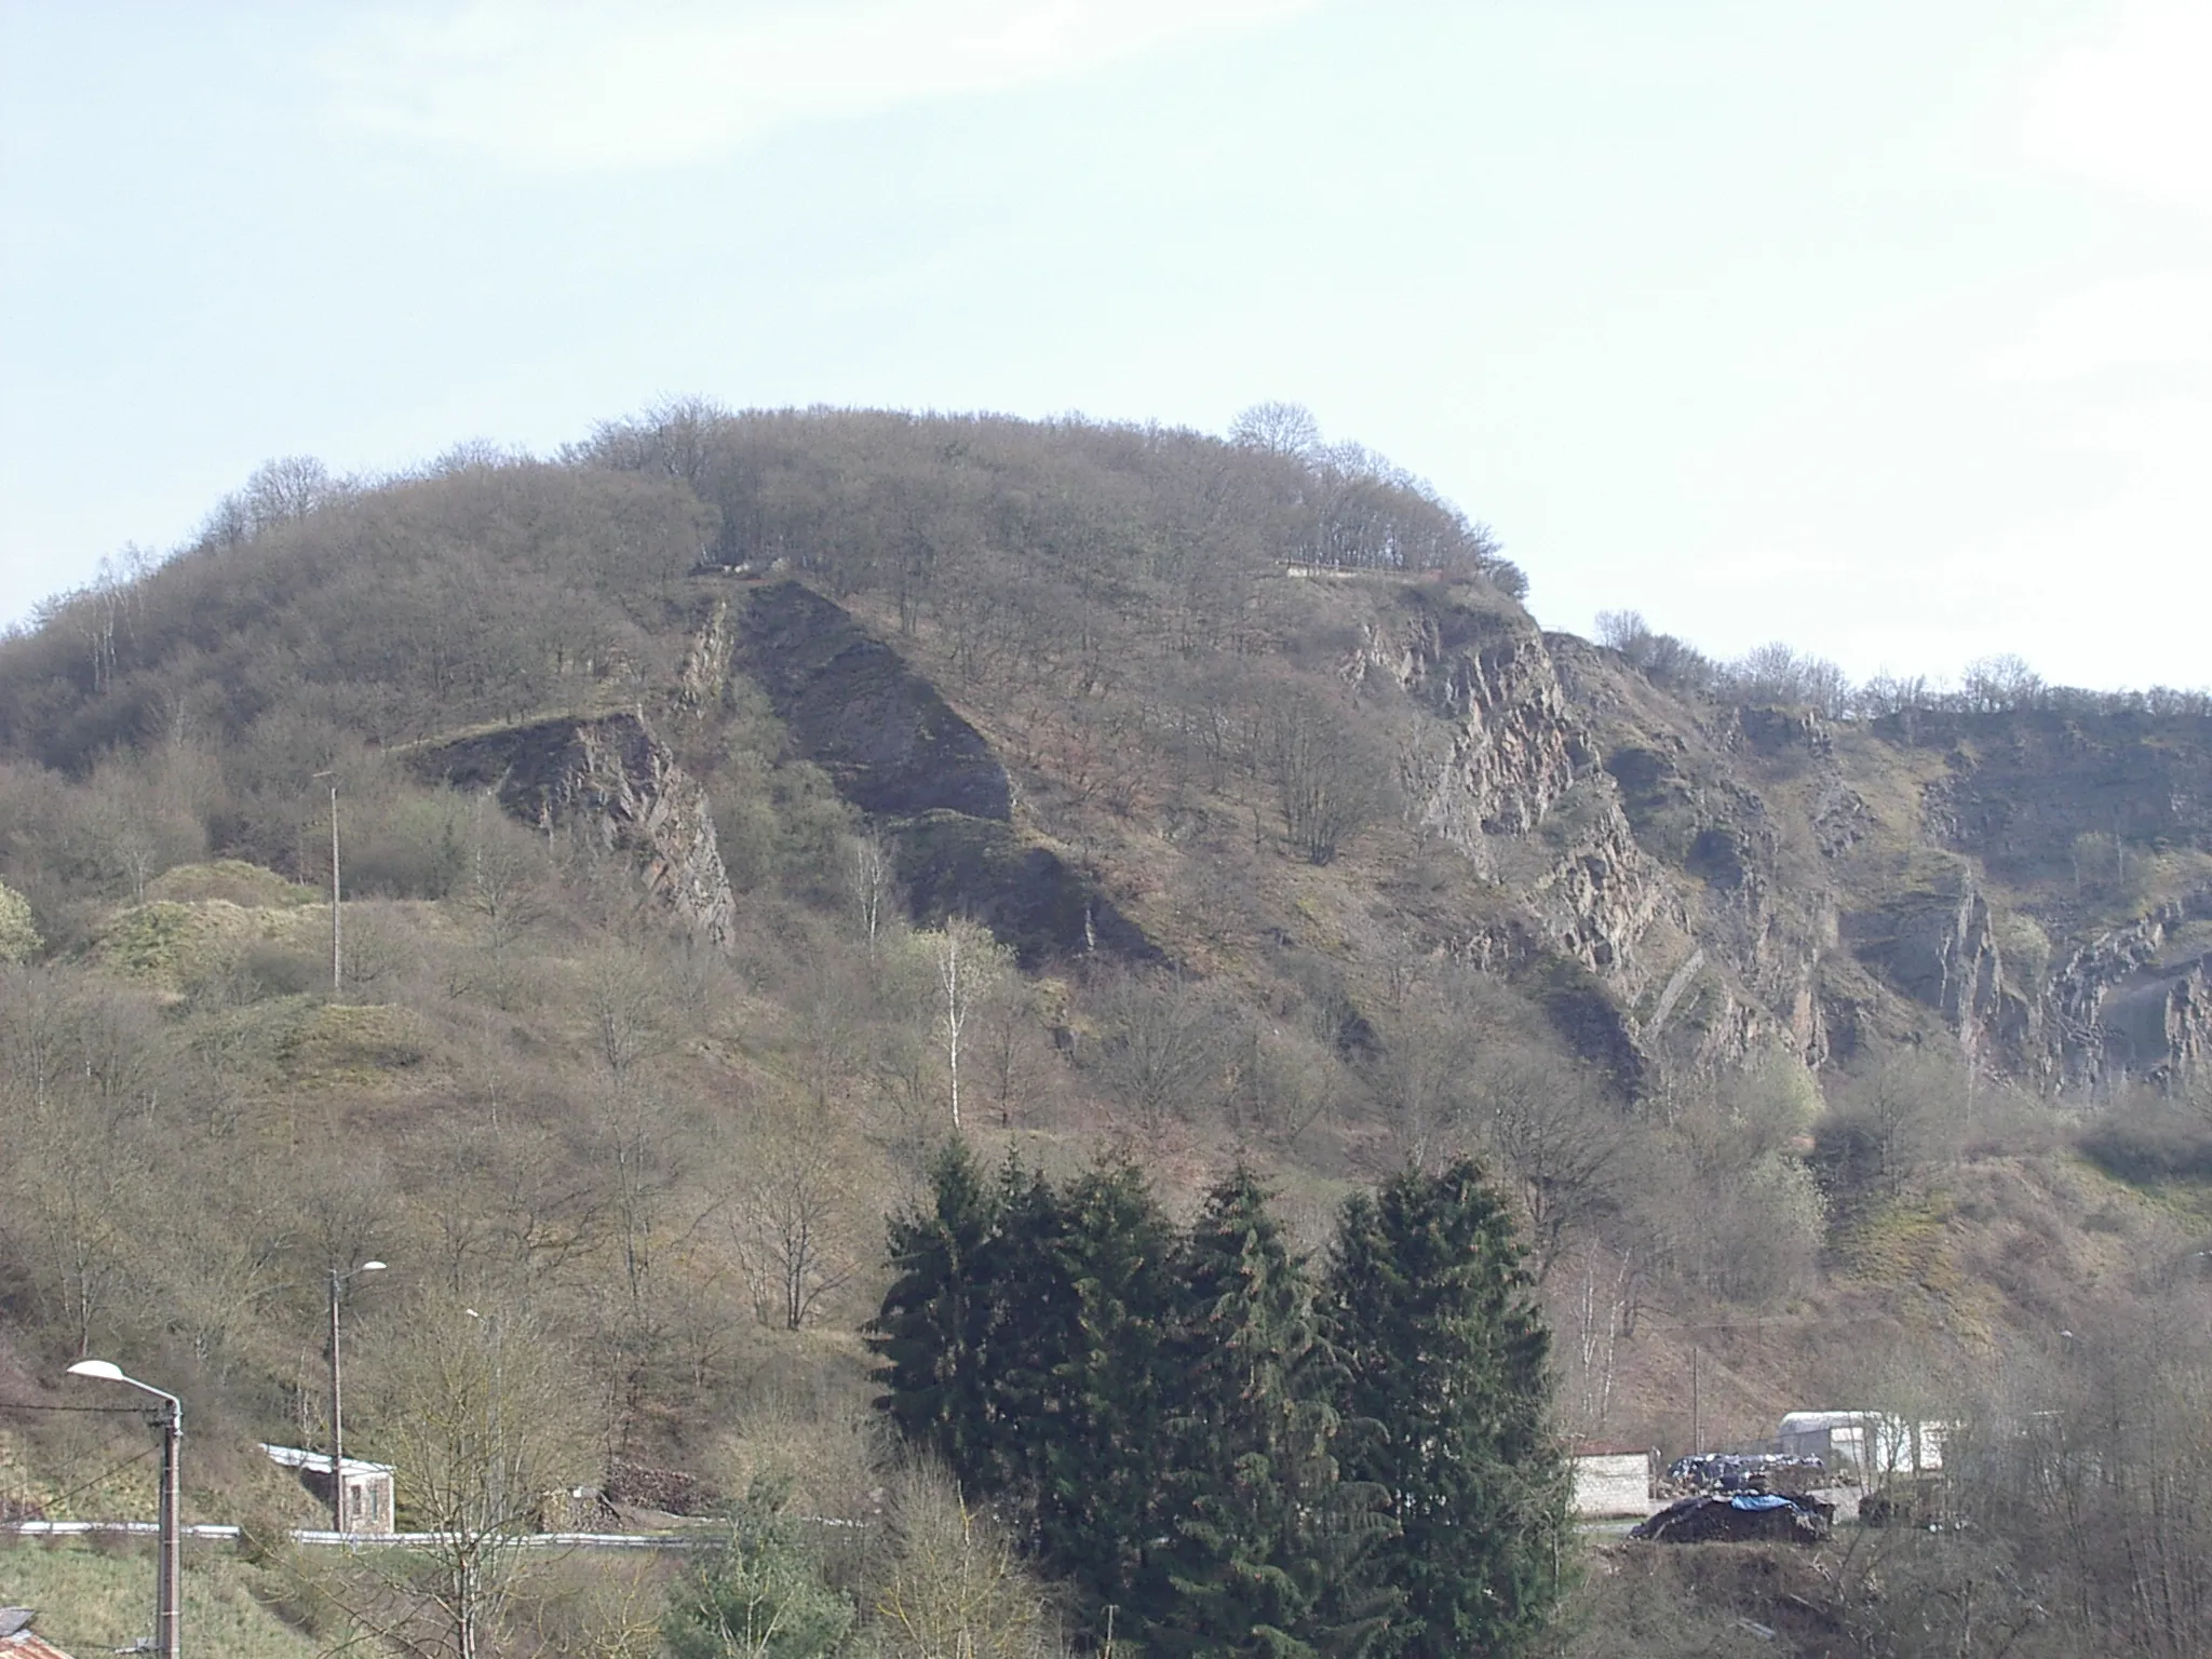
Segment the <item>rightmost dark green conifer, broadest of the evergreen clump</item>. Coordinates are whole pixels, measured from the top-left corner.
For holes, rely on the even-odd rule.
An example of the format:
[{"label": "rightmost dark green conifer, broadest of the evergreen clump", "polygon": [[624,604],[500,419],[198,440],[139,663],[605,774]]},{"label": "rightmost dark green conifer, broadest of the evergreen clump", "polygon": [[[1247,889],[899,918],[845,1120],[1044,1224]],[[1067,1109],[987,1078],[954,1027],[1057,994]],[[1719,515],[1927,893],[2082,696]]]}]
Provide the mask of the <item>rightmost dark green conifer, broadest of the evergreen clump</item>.
[{"label": "rightmost dark green conifer, broadest of the evergreen clump", "polygon": [[1482,1170],[1347,1199],[1323,1307],[1345,1480],[1380,1486],[1396,1522],[1367,1559],[1402,1597],[1378,1652],[1531,1652],[1559,1595],[1566,1462],[1551,1336]]}]

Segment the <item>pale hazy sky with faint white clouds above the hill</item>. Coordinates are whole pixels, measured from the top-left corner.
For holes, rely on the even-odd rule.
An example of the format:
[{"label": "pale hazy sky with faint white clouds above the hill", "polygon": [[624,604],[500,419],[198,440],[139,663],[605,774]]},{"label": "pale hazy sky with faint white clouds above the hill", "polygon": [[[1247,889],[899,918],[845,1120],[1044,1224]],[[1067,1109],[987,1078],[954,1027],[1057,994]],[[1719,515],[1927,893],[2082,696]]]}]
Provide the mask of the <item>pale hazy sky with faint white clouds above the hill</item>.
[{"label": "pale hazy sky with faint white clouds above the hill", "polygon": [[2205,0],[0,0],[0,619],[261,460],[1296,398],[1537,615],[2212,681]]}]

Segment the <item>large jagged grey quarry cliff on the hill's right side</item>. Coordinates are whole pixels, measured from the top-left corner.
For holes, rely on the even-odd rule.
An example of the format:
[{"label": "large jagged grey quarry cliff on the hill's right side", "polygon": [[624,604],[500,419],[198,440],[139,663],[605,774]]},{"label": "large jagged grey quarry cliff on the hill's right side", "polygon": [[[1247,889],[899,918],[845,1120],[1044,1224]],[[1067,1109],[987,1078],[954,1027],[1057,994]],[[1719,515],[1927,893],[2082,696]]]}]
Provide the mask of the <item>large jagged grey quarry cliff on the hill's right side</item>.
[{"label": "large jagged grey quarry cliff on the hill's right side", "polygon": [[[2212,865],[2174,856],[2212,845],[2208,721],[1712,710],[1413,584],[1376,593],[1343,672],[1442,730],[1407,745],[1409,810],[1528,931],[1478,958],[1586,969],[1644,1066],[1818,1066],[1936,1026],[1993,1073],[2099,1093],[2212,1055],[2212,938],[2183,938]],[[2068,880],[2099,847],[2197,885],[2086,925]]]}]

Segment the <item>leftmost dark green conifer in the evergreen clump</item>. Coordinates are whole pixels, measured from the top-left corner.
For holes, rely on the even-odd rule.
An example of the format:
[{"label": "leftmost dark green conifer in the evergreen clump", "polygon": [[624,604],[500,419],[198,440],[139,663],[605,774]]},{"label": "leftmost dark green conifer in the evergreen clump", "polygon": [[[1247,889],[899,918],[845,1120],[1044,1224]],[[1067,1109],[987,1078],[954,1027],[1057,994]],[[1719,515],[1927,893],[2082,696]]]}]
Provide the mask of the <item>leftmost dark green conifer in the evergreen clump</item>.
[{"label": "leftmost dark green conifer in the evergreen clump", "polygon": [[989,1270],[1002,1197],[960,1139],[931,1159],[929,1188],[929,1206],[889,1228],[896,1279],[867,1336],[885,1360],[876,1405],[956,1480],[989,1484],[998,1467],[987,1371],[998,1303]]}]

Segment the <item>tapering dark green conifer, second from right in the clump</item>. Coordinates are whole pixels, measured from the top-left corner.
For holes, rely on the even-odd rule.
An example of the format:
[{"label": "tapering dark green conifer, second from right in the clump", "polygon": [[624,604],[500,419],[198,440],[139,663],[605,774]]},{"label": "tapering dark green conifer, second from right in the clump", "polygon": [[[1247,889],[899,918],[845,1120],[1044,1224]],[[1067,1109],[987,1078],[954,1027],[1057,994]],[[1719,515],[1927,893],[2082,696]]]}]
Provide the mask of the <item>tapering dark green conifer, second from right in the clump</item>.
[{"label": "tapering dark green conifer, second from right in the clump", "polygon": [[1181,1400],[1166,1544],[1141,1608],[1146,1652],[1307,1659],[1356,1648],[1358,1632],[1327,1630],[1321,1615],[1327,1579],[1358,1548],[1329,1455],[1327,1352],[1312,1287],[1250,1170],[1208,1194],[1183,1281],[1168,1349]]}]

